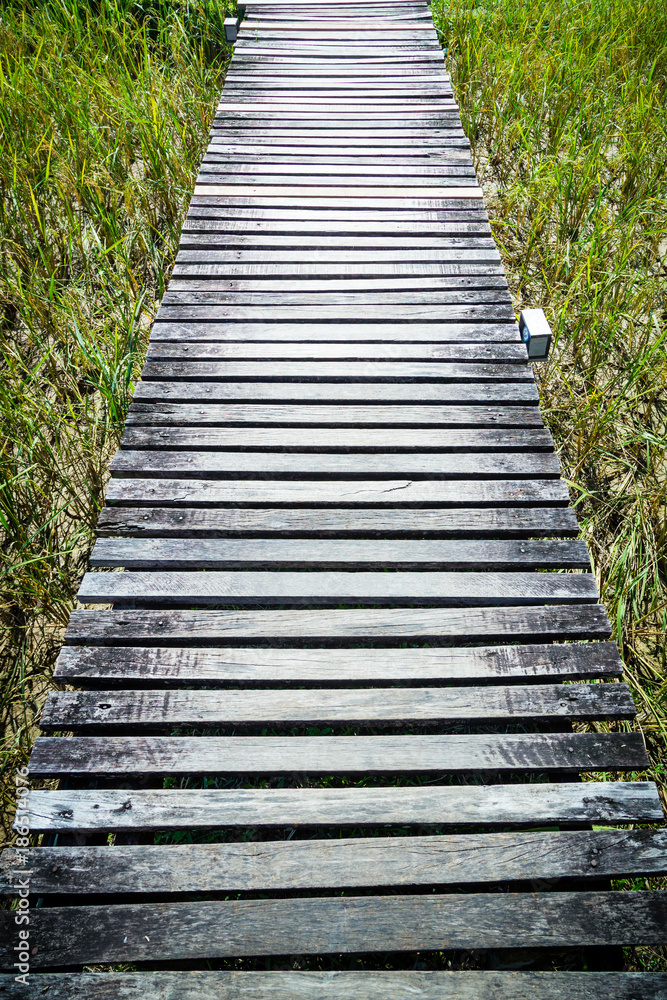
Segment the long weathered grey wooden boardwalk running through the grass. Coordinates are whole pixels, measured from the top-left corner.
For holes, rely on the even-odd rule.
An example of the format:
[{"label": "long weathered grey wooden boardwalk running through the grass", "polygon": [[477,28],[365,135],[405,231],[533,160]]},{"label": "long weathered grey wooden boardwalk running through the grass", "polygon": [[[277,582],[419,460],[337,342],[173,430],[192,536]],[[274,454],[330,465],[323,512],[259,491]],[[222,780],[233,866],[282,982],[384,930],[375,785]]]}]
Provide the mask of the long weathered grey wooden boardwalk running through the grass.
[{"label": "long weathered grey wooden boardwalk running through the grass", "polygon": [[576,725],[635,714],[576,535],[428,7],[249,4],[0,996],[664,1000],[617,971],[667,893],[610,880],[664,873],[667,834],[618,780],[641,735]]}]

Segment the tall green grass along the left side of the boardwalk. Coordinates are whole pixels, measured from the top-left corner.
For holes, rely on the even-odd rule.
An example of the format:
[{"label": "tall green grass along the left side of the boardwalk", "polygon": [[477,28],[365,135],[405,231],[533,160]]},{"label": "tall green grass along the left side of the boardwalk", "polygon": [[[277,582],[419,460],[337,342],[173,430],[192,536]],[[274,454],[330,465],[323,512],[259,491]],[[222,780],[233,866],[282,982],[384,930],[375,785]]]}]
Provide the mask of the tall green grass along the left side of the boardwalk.
[{"label": "tall green grass along the left side of the boardwalk", "polygon": [[29,749],[73,606],[231,54],[228,10],[224,0],[0,9],[5,773]]}]

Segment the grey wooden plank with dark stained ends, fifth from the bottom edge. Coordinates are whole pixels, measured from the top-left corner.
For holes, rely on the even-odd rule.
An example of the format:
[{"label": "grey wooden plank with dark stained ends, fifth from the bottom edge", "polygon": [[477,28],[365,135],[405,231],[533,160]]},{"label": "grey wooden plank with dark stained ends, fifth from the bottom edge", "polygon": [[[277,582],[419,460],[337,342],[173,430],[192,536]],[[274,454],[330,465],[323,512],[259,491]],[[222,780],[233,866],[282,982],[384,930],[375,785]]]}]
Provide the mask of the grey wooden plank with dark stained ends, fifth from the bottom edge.
[{"label": "grey wooden plank with dark stained ends, fifth from the bottom edge", "polygon": [[32,777],[293,771],[310,775],[576,773],[642,771],[648,766],[640,733],[39,736],[29,764]]}]

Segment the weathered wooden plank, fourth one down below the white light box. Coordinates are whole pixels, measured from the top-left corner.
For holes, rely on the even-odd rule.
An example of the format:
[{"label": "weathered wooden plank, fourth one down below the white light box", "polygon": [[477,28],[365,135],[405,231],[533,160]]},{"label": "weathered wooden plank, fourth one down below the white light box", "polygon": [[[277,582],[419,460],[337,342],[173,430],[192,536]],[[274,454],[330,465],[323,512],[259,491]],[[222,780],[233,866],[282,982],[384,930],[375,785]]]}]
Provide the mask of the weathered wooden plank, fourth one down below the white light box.
[{"label": "weathered wooden plank, fourth one down below the white light box", "polygon": [[309,427],[128,427],[123,448],[182,448],[190,451],[257,448],[298,449],[299,451],[346,451],[368,449],[386,454],[400,449],[440,452],[511,451],[549,452],[553,439],[546,427],[434,430],[393,428],[391,437],[381,428]]}]

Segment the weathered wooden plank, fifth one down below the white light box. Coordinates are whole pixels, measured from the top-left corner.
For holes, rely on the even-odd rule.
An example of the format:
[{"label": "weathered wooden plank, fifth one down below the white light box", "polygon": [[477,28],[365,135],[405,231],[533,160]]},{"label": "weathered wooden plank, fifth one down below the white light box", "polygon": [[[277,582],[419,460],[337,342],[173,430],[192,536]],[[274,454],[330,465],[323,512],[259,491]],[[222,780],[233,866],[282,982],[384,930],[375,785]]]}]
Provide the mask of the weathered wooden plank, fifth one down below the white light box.
[{"label": "weathered wooden plank, fifth one down below the white light box", "polygon": [[111,473],[120,478],[225,479],[257,476],[273,479],[314,476],[337,479],[410,476],[429,479],[557,479],[558,456],[548,452],[312,452],[258,451],[119,451]]}]

